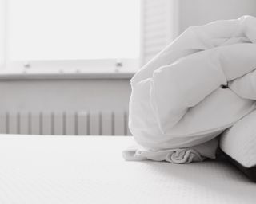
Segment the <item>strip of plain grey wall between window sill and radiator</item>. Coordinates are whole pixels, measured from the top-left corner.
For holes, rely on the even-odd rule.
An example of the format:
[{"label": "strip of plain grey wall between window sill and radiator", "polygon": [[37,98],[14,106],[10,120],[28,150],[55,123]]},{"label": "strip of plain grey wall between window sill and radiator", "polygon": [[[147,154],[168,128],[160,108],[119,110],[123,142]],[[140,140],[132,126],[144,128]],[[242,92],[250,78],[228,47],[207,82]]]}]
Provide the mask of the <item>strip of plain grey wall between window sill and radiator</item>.
[{"label": "strip of plain grey wall between window sill and radiator", "polygon": [[130,80],[0,80],[0,112],[125,110]]}]

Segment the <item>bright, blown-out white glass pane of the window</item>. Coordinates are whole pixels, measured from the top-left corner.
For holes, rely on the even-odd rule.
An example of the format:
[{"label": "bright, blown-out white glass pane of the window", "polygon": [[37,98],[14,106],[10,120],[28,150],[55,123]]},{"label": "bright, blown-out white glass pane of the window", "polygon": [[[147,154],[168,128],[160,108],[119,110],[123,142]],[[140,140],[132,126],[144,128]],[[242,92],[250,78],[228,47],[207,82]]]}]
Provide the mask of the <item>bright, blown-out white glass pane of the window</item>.
[{"label": "bright, blown-out white glass pane of the window", "polygon": [[139,0],[7,0],[9,61],[139,57]]}]

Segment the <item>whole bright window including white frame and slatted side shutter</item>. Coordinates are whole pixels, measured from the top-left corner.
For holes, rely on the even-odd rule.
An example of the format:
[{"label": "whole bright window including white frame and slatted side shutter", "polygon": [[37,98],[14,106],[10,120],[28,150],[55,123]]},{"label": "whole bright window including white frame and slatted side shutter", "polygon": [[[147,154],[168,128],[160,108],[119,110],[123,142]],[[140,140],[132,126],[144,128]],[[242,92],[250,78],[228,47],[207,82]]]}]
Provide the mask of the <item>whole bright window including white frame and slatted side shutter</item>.
[{"label": "whole bright window including white frame and slatted side shutter", "polygon": [[0,0],[0,63],[134,72],[178,35],[177,8],[178,0]]}]

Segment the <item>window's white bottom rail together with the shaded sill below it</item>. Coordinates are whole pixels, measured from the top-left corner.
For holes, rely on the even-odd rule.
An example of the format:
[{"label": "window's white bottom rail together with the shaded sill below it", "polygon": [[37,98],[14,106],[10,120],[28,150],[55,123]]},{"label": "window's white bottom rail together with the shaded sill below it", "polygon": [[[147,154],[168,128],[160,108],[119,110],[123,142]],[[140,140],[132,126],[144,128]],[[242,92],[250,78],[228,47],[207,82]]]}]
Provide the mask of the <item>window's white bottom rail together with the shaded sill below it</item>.
[{"label": "window's white bottom rail together with the shaded sill below it", "polygon": [[129,80],[138,67],[138,59],[8,61],[0,69],[0,80]]}]

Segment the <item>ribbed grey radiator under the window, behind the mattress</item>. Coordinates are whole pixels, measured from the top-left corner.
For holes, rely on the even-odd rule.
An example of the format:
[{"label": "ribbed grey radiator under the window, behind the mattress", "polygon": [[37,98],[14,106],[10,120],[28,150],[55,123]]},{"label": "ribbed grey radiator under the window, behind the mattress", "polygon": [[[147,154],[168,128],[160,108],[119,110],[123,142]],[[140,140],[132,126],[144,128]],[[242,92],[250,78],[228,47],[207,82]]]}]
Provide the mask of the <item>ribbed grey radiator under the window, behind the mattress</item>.
[{"label": "ribbed grey radiator under the window, behind the mattress", "polygon": [[2,112],[0,133],[22,135],[130,135],[127,111]]}]

